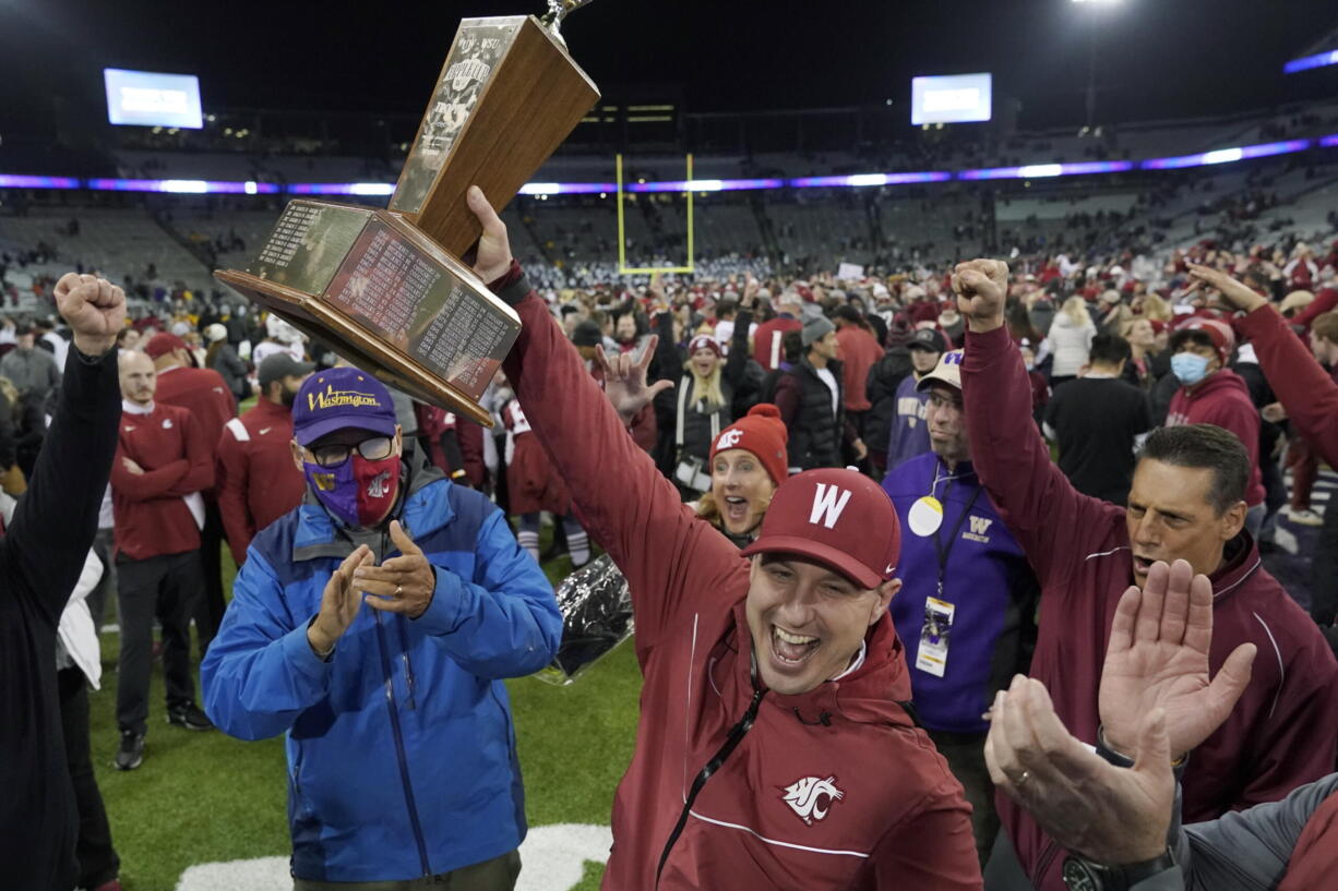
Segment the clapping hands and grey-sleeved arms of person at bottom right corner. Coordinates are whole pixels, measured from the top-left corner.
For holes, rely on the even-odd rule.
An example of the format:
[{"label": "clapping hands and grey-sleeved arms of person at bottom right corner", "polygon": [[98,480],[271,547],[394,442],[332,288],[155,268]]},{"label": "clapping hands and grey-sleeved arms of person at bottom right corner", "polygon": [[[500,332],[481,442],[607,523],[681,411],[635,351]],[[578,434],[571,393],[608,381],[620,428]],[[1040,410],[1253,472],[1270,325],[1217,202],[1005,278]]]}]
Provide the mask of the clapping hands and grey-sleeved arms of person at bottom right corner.
[{"label": "clapping hands and grey-sleeved arms of person at bottom right corner", "polygon": [[[1338,773],[1282,801],[1180,825],[1176,780],[1227,716],[1256,656],[1248,644],[1208,681],[1212,583],[1184,561],[1120,599],[1101,674],[1103,729],[1136,742],[1092,752],[1045,686],[1016,678],[995,697],[986,759],[994,781],[1069,854],[1070,888],[1314,891],[1338,870]],[[1173,759],[1173,760],[1172,760]]]}]

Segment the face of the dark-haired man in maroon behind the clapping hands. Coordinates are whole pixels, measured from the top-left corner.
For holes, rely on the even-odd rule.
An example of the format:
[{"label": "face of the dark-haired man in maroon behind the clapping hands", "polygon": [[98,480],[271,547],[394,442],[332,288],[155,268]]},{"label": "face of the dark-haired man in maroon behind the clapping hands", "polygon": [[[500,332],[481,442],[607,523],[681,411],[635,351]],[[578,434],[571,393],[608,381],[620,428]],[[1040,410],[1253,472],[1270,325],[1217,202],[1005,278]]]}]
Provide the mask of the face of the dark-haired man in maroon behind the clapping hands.
[{"label": "face of the dark-haired man in maroon behind the clapping hands", "polygon": [[1133,551],[1133,581],[1143,587],[1156,561],[1188,561],[1195,574],[1212,575],[1227,542],[1246,522],[1246,503],[1219,512],[1211,467],[1177,467],[1144,458],[1133,471],[1124,520]]}]

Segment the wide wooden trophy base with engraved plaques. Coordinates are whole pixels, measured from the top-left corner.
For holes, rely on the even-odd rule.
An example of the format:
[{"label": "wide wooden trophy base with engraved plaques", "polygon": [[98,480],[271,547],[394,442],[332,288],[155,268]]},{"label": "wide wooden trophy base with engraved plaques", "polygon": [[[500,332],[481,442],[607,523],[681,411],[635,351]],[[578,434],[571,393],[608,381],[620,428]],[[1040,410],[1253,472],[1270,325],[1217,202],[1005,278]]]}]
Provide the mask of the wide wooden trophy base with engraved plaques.
[{"label": "wide wooden trophy base with engraved plaques", "polygon": [[293,201],[246,272],[214,276],[391,387],[492,425],[478,400],[520,318],[400,214]]}]

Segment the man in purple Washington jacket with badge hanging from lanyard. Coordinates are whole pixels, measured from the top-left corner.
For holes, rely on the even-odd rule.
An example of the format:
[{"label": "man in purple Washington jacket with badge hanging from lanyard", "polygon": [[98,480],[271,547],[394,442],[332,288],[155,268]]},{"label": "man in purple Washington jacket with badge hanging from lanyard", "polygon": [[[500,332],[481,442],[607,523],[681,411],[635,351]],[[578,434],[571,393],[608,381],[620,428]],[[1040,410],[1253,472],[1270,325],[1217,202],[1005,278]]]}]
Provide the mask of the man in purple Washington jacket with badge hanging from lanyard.
[{"label": "man in purple Washington jacket with badge hanging from lanyard", "polygon": [[915,384],[929,393],[933,451],[892,467],[883,488],[904,530],[898,567],[904,585],[891,613],[911,666],[915,710],[971,803],[983,867],[999,825],[983,713],[994,692],[1025,672],[1037,586],[971,468],[961,364],[962,351],[943,353]]}]

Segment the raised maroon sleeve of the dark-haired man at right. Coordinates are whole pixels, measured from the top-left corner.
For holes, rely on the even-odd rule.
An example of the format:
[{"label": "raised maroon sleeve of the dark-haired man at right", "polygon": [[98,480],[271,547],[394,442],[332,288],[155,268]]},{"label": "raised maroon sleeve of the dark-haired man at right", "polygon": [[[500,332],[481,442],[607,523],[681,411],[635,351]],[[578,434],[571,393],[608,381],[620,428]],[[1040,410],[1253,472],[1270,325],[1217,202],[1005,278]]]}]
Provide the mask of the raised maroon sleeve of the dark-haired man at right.
[{"label": "raised maroon sleeve of the dark-haired man at right", "polygon": [[1098,518],[1112,510],[1082,495],[1050,460],[1032,420],[1032,381],[1022,353],[1001,326],[966,333],[962,400],[971,431],[971,460],[1004,512],[1042,585],[1072,565]]}]

